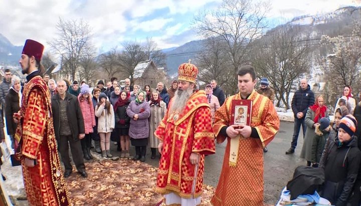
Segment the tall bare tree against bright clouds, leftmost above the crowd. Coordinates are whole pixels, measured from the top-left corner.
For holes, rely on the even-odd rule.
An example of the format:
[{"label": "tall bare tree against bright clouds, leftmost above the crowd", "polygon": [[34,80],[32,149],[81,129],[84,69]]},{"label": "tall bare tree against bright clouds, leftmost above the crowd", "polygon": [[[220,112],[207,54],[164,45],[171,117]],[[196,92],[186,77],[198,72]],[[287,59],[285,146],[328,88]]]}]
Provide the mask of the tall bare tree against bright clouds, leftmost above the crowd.
[{"label": "tall bare tree against bright clouds, leftmost above the crowd", "polygon": [[59,18],[56,26],[58,36],[49,43],[51,48],[62,58],[62,71],[70,80],[75,80],[75,75],[80,66],[80,59],[92,51],[91,29],[83,20],[63,20]]}]

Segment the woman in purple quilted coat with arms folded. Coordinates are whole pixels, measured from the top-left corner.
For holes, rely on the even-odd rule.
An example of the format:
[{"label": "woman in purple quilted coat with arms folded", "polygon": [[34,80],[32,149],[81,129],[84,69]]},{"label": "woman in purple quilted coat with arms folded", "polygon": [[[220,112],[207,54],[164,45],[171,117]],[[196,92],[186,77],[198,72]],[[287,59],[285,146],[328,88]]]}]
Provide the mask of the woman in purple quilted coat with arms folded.
[{"label": "woman in purple quilted coat with arms folded", "polygon": [[127,107],[127,115],[130,117],[129,137],[131,144],[135,146],[135,156],[133,160],[145,161],[146,146],[149,137],[150,116],[149,103],[145,101],[146,93],[139,91],[134,101]]}]

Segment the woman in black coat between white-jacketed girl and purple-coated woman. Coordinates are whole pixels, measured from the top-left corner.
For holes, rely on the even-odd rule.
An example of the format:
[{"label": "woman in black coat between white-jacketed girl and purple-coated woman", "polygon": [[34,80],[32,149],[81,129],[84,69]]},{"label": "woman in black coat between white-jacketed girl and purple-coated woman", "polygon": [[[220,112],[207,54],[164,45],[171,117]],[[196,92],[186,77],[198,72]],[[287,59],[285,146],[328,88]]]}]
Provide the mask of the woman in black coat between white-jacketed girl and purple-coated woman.
[{"label": "woman in black coat between white-jacketed girl and purple-coated woman", "polygon": [[127,93],[122,91],[120,98],[114,104],[114,115],[115,115],[115,128],[117,128],[120,135],[120,146],[121,146],[121,158],[129,158],[129,122],[130,117],[126,113],[126,109],[129,105],[129,98]]}]

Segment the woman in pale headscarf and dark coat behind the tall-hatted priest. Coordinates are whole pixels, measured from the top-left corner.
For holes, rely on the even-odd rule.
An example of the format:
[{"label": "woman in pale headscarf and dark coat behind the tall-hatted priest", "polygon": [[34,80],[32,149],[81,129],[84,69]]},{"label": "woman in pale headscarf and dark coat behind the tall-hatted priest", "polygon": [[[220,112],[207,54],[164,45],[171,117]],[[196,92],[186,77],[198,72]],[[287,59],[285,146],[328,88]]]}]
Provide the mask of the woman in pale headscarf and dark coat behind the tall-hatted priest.
[{"label": "woman in pale headscarf and dark coat behind the tall-hatted priest", "polygon": [[[17,123],[14,122],[13,114],[17,113],[20,110],[21,101],[22,101],[22,87],[20,78],[16,75],[12,78],[12,85],[9,89],[7,96],[5,97],[5,118],[7,124],[7,131],[10,135],[12,141],[12,148],[14,149],[14,134],[16,132]],[[1,115],[0,115],[1,116]],[[3,118],[0,120],[0,127],[3,125]],[[3,135],[4,129],[2,129],[1,134]]]}]

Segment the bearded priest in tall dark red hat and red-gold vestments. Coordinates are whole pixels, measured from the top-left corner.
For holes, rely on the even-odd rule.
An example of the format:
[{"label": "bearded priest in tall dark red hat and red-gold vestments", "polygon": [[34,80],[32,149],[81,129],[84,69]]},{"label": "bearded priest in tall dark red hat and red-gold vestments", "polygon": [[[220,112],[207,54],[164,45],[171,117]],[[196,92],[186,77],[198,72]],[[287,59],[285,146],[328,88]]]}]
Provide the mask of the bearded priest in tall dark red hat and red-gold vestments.
[{"label": "bearded priest in tall dark red hat and red-gold vestments", "polygon": [[70,205],[58,158],[51,110],[50,91],[41,77],[44,46],[27,40],[19,61],[28,74],[18,122],[16,158],[21,160],[24,185],[30,205]]}]

